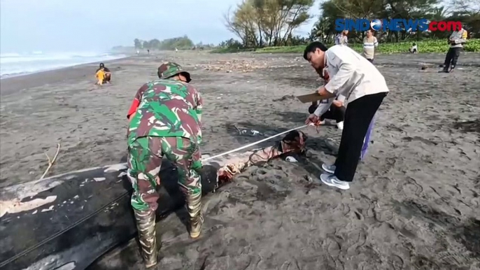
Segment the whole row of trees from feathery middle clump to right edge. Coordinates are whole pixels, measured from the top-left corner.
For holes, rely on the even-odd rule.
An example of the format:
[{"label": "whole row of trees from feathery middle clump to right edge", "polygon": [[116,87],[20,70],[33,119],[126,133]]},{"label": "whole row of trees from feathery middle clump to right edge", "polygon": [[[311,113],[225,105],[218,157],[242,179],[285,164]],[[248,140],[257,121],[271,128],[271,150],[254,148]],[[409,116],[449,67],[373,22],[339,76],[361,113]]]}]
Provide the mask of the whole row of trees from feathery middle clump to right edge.
[{"label": "whole row of trees from feathery middle clump to right edge", "polygon": [[[309,9],[314,0],[244,0],[224,15],[225,26],[239,38],[220,44],[223,47],[262,48],[297,45],[320,40],[333,43],[338,31],[337,18],[352,19],[427,19],[454,20],[463,23],[470,37],[480,37],[480,1],[450,0],[327,0],[320,3],[320,16],[308,37],[292,34],[312,18]],[[440,4],[444,3],[444,6]],[[441,31],[381,31],[376,33],[383,42],[446,38]],[[365,32],[351,31],[348,37],[360,42]]]}]

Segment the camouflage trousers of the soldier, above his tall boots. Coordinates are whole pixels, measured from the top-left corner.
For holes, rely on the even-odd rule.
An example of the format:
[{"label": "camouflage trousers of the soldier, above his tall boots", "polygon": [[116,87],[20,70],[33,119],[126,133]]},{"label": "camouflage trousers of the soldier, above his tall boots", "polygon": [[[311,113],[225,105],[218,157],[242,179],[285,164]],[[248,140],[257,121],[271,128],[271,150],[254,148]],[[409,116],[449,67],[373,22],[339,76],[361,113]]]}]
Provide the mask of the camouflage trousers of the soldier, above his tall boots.
[{"label": "camouflage trousers of the soldier, above his tall boots", "polygon": [[202,192],[199,169],[202,168],[199,145],[183,137],[137,138],[128,151],[128,178],[134,188],[132,207],[139,211],[157,210],[156,190],[162,157],[176,165],[178,184],[186,194]]}]

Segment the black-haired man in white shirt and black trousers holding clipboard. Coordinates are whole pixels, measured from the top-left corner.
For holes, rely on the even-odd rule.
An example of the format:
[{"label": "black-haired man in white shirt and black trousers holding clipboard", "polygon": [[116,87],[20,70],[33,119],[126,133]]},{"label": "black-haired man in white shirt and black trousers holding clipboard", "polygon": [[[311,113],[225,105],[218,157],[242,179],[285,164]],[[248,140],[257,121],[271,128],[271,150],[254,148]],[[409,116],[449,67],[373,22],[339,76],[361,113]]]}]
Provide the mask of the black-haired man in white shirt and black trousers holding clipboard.
[{"label": "black-haired man in white shirt and black trousers holding clipboard", "polygon": [[[319,99],[330,99],[339,94],[346,97],[344,131],[337,160],[332,165],[322,165],[327,173],[323,173],[320,180],[325,185],[348,190],[367,129],[388,94],[385,78],[365,57],[346,46],[334,45],[327,49],[323,43],[313,42],[306,46],[304,59],[314,69],[323,69],[330,76],[329,82],[318,89]],[[320,113],[316,111],[309,115],[306,124],[318,125]]]}]

